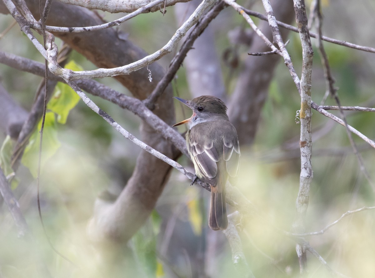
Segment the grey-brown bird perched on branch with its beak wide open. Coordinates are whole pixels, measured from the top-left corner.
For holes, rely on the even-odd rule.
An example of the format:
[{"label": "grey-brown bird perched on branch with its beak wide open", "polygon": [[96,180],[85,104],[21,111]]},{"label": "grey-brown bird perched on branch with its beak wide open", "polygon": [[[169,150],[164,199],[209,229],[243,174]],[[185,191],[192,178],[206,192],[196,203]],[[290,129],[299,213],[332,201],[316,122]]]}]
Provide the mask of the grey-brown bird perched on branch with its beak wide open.
[{"label": "grey-brown bird perched on branch with its beak wide open", "polygon": [[222,100],[200,96],[180,100],[192,109],[193,115],[180,123],[187,123],[186,146],[194,163],[195,175],[211,186],[211,206],[208,226],[213,230],[228,227],[225,206],[225,184],[229,176],[236,176],[240,164],[237,132],[226,115]]}]

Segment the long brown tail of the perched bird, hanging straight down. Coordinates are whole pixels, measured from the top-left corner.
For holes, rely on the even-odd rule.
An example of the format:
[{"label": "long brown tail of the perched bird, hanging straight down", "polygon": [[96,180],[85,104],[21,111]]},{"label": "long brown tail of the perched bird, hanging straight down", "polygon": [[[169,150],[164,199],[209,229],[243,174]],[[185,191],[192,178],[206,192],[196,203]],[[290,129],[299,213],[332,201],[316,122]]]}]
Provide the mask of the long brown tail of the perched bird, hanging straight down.
[{"label": "long brown tail of the perched bird, hanging straight down", "polygon": [[228,218],[226,216],[225,190],[214,192],[211,187],[211,206],[208,215],[208,226],[213,230],[225,230],[228,227]]}]

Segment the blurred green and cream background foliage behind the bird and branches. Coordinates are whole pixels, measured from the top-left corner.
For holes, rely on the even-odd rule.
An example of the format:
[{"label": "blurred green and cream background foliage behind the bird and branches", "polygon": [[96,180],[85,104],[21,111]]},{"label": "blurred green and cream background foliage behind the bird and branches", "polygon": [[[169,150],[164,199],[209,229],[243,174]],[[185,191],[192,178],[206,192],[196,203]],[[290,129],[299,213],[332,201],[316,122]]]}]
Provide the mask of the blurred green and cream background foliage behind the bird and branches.
[{"label": "blurred green and cream background foliage behind the bird and branches", "polygon": [[[160,12],[141,14],[121,24],[118,30],[146,52],[153,53],[165,45],[180,26],[175,9],[187,9],[189,4],[167,7],[165,15]],[[240,4],[264,14],[260,1],[240,1]],[[307,1],[308,13],[309,4],[310,1]],[[121,13],[98,12],[106,21],[123,16]],[[343,3],[326,0],[322,1],[322,13],[325,36],[375,46],[373,1]],[[260,22],[257,18],[254,21],[256,24]],[[13,22],[10,15],[1,14],[0,32],[4,32]],[[248,45],[234,43],[231,39],[231,34],[237,32],[238,28],[242,32],[252,33],[242,16],[231,7],[223,10],[212,25],[215,41],[213,51],[216,51],[222,69],[227,99],[230,99],[245,62],[261,63],[263,57],[249,56]],[[314,27],[312,31],[316,32]],[[300,75],[302,49],[299,35],[289,33],[288,39],[290,43],[287,49]],[[57,45],[61,44],[61,40],[56,41]],[[312,100],[319,104],[326,92],[326,81],[315,39],[312,39],[312,43],[315,53]],[[335,86],[339,88],[341,104],[374,107],[375,54],[327,42],[324,42],[324,46],[336,80]],[[0,48],[43,63],[17,24],[1,36]],[[158,62],[167,69],[176,52],[177,49]],[[235,57],[235,63],[228,64],[228,53]],[[85,70],[96,68],[75,51],[69,60],[74,60]],[[0,64],[0,75],[3,87],[29,111],[40,77],[4,64]],[[113,78],[98,81],[130,95]],[[197,91],[190,91],[186,67],[181,67],[177,72],[172,86],[175,96],[192,99],[200,95]],[[242,219],[240,237],[247,263],[255,277],[299,277],[295,242],[275,229],[291,229],[300,174],[300,125],[295,122],[300,97],[281,57],[267,90],[268,96],[261,108],[254,141],[241,144],[240,174],[233,181],[233,185],[267,217],[254,215]],[[141,120],[136,115],[99,97],[89,97],[139,138]],[[325,105],[336,103],[328,97]],[[374,206],[375,199],[371,186],[375,184],[374,149],[353,135],[371,177],[369,181],[360,169],[345,128],[317,111],[312,112],[314,178],[306,215],[306,232],[322,230],[348,210]],[[175,113],[177,122],[191,115],[177,102]],[[332,113],[341,117],[337,111]],[[345,115],[348,124],[368,138],[375,138],[374,113],[346,111]],[[237,129],[240,128],[237,126]],[[42,230],[37,211],[35,179],[28,167],[21,165],[17,172],[18,183],[13,191],[39,251],[18,237],[12,217],[3,203],[0,212],[2,277],[37,277],[37,266],[31,260],[28,262],[35,252],[40,252],[53,277],[242,277],[235,271],[224,234],[208,228],[209,193],[197,185],[190,186],[190,181],[177,170],[172,170],[147,223],[127,243],[128,263],[118,263],[123,268],[108,267],[103,273],[100,266],[106,254],[99,253],[87,239],[87,222],[93,215],[98,196],[108,201],[120,193],[123,181],[132,174],[141,150],[124,139],[82,101],[71,110],[66,124],[56,123],[55,129],[59,147],[46,161],[48,168],[42,168],[40,178],[41,211],[47,236]],[[178,130],[181,133],[186,131],[185,127]],[[0,141],[5,139],[5,131],[1,131]],[[37,157],[34,157],[34,161],[37,163]],[[188,158],[181,157],[178,162],[193,172]],[[229,205],[228,209],[234,211]],[[374,219],[373,210],[359,212],[344,218],[323,235],[306,239],[332,269],[350,277],[374,277]],[[49,246],[47,238],[78,267],[58,256]],[[110,247],[108,244],[108,249]],[[115,255],[112,256],[115,262]],[[308,267],[308,277],[330,277],[329,271],[310,253]]]}]

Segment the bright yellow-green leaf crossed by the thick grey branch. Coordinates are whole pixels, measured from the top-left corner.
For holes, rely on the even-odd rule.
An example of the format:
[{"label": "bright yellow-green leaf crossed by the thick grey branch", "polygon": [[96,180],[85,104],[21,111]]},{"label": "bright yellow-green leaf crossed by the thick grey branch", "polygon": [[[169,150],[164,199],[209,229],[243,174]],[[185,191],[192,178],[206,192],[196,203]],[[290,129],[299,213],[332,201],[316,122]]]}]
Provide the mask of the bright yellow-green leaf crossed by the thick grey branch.
[{"label": "bright yellow-green leaf crossed by the thick grey branch", "polygon": [[[74,61],[70,61],[65,66],[71,70],[82,70]],[[47,109],[57,114],[57,122],[65,124],[69,112],[77,105],[80,97],[69,85],[58,82],[55,87],[55,92],[47,104]]]}]

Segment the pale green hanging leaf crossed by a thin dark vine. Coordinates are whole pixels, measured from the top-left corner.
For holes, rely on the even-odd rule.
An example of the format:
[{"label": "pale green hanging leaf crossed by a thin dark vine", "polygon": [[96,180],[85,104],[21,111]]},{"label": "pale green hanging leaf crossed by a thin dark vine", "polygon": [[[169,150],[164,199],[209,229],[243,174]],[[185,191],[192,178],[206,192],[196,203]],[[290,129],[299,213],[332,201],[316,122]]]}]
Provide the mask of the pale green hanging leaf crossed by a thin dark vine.
[{"label": "pale green hanging leaf crossed by a thin dark vine", "polygon": [[[39,121],[37,129],[30,136],[28,145],[26,146],[24,155],[22,157],[22,163],[28,167],[34,178],[37,176],[37,161],[39,157],[40,142],[39,130],[41,127],[42,120]],[[48,158],[55,154],[60,145],[61,143],[57,139],[55,114],[53,112],[47,112],[43,129],[41,168],[43,168],[43,165],[46,163]]]}]

